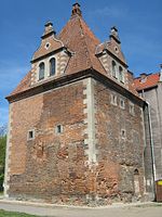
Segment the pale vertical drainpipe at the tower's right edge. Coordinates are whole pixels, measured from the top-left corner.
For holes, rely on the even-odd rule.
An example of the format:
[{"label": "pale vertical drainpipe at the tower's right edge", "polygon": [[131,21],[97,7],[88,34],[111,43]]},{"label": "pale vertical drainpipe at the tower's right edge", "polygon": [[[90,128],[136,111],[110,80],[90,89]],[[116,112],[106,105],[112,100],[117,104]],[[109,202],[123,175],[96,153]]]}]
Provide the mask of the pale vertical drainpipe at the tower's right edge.
[{"label": "pale vertical drainpipe at the tower's right edge", "polygon": [[152,136],[152,123],[151,123],[150,104],[147,101],[146,101],[146,103],[147,103],[147,107],[148,107],[148,123],[149,123],[149,132],[150,132],[152,175],[153,175],[153,191],[154,191],[154,200],[156,200],[156,158],[154,158],[153,136]]}]

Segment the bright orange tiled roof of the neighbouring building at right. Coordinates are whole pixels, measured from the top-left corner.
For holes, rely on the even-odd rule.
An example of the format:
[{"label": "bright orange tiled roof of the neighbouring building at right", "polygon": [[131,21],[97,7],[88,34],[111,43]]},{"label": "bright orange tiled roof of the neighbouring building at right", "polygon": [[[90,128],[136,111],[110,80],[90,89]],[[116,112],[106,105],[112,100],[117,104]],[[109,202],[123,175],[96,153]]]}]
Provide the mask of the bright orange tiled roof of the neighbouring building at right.
[{"label": "bright orange tiled roof of the neighbouring building at right", "polygon": [[133,86],[137,91],[146,90],[146,89],[157,87],[159,79],[160,79],[159,73],[149,74],[149,75],[145,74],[144,77],[135,78]]}]

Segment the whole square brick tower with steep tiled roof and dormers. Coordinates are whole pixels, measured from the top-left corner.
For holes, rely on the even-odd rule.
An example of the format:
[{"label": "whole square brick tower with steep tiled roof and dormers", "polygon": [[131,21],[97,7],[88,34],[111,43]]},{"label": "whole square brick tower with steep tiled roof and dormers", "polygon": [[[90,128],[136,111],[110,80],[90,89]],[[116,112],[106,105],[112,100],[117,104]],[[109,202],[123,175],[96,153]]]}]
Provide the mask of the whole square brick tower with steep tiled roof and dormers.
[{"label": "whole square brick tower with steep tiled roof and dormers", "polygon": [[75,205],[144,197],[144,101],[130,88],[116,27],[110,38],[99,42],[78,3],[59,36],[45,24],[30,73],[8,97],[5,196]]}]

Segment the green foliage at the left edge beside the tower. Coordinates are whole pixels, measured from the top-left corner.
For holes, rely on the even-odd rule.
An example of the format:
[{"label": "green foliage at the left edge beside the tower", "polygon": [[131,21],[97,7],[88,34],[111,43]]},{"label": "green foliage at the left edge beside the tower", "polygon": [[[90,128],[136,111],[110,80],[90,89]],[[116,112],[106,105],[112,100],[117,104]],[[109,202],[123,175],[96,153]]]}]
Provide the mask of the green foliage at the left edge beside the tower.
[{"label": "green foliage at the left edge beside the tower", "polygon": [[2,191],[4,180],[6,136],[0,137],[0,191]]}]

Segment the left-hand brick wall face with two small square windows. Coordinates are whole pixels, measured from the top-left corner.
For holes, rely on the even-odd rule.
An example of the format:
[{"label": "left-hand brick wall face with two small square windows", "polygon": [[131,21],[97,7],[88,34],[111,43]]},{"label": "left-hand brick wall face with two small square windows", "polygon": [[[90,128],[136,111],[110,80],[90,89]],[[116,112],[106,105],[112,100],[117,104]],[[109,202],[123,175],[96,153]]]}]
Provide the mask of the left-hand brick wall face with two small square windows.
[{"label": "left-hand brick wall face with two small square windows", "polygon": [[[9,195],[57,203],[85,195],[90,177],[84,165],[82,81],[18,101],[13,107]],[[55,131],[57,125],[63,126],[62,133]],[[35,139],[27,141],[30,129]]]}]

